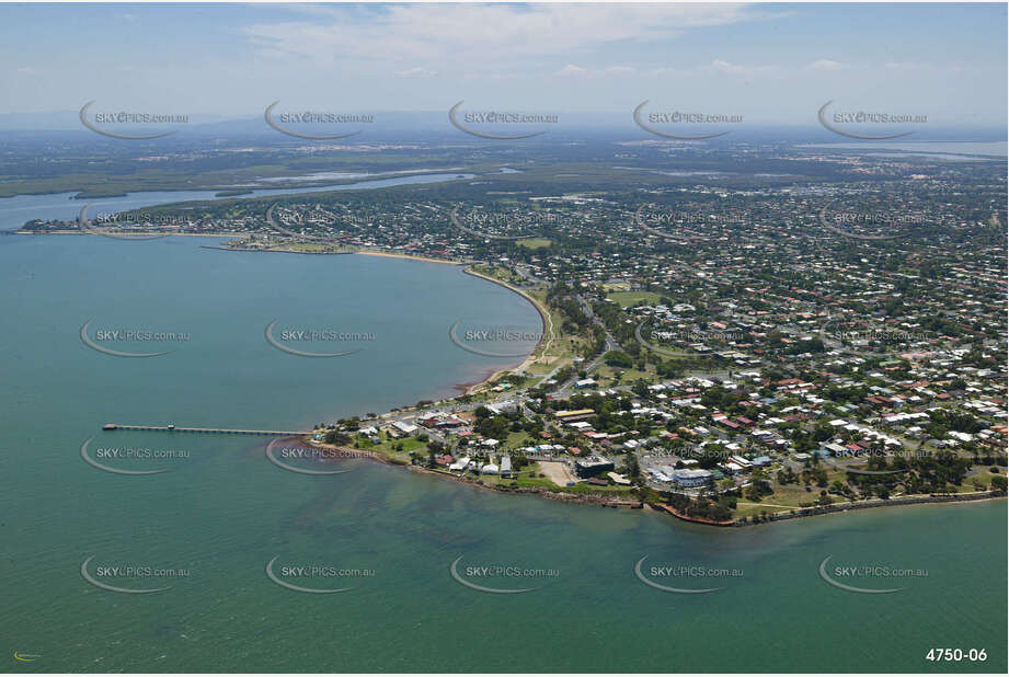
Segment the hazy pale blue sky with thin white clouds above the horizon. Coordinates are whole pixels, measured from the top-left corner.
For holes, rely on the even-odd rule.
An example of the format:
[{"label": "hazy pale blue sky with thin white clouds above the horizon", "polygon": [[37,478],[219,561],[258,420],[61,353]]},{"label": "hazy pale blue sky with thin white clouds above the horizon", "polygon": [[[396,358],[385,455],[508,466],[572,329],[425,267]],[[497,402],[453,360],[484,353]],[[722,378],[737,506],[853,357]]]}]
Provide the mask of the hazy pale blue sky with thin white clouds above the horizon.
[{"label": "hazy pale blue sky with thin white clouds above the horizon", "polygon": [[826,101],[1005,127],[1007,5],[0,4],[0,114],[650,108]]}]

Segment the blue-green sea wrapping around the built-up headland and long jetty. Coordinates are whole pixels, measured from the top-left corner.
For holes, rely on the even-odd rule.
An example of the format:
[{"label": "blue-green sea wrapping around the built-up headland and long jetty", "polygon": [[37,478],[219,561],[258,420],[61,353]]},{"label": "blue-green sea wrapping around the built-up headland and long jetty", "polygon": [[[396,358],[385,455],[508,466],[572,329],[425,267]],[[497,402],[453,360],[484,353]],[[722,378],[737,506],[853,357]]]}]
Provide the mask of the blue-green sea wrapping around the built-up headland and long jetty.
[{"label": "blue-green sea wrapping around the built-up headland and long jetty", "polygon": [[[746,529],[496,494],[366,460],[285,471],[267,439],[103,433],[103,423],[301,427],[450,394],[505,366],[465,352],[465,318],[539,330],[535,310],[454,266],[203,249],[206,238],[0,239],[0,638],[8,672],[1005,672],[1006,503],[865,510]],[[346,357],[273,348],[274,319],[372,333]],[[88,348],[81,324],[186,332],[153,358]],[[279,326],[279,325],[278,325]],[[94,335],[94,334],[92,334]],[[159,346],[161,344],[158,344]],[[142,342],[116,344],[148,349]],[[298,346],[305,347],[305,346]],[[328,349],[313,345],[311,349]],[[81,444],[185,451],[108,461]],[[326,468],[334,466],[326,466]],[[639,581],[719,589],[673,594]],[[463,580],[520,594],[486,594]],[[925,576],[838,577],[837,565]],[[105,566],[174,577],[104,576]],[[324,565],[374,575],[282,574]],[[652,576],[651,565],[741,575]],[[467,566],[555,575],[481,577]],[[277,571],[277,570],[275,570]],[[933,664],[931,647],[985,649]],[[19,663],[13,652],[37,656]]]}]

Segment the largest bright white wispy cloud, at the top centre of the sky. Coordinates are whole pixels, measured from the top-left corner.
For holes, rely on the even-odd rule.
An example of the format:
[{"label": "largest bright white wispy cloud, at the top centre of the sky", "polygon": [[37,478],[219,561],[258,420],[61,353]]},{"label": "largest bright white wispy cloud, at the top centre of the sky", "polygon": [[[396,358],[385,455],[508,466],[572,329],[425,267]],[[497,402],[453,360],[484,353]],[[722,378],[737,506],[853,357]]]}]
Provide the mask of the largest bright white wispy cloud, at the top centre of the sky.
[{"label": "largest bright white wispy cloud, at the top centre of the sky", "polygon": [[[668,41],[757,16],[739,4],[408,4],[298,8],[311,21],[241,28],[271,56],[477,64]],[[444,70],[444,69],[443,69]]]}]

